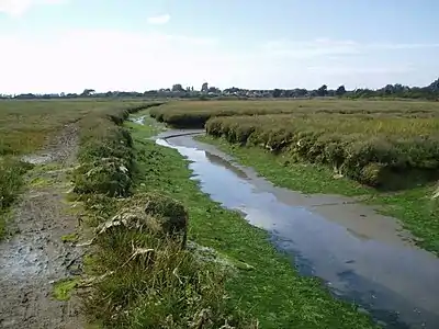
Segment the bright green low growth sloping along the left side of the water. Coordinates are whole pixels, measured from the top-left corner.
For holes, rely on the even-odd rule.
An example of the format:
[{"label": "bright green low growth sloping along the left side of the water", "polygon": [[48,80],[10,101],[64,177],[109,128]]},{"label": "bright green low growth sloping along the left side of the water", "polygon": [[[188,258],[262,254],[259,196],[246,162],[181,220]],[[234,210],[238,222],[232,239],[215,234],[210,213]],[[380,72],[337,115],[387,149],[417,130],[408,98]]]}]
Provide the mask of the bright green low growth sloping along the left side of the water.
[{"label": "bright green low growth sloping along the left side of the water", "polygon": [[252,266],[225,282],[229,305],[258,318],[260,328],[374,328],[356,306],[334,299],[317,279],[301,276],[264,231],[202,193],[176,150],[147,140],[151,134],[145,127],[130,127],[138,168],[135,192],[159,192],[182,202],[189,239]]}]

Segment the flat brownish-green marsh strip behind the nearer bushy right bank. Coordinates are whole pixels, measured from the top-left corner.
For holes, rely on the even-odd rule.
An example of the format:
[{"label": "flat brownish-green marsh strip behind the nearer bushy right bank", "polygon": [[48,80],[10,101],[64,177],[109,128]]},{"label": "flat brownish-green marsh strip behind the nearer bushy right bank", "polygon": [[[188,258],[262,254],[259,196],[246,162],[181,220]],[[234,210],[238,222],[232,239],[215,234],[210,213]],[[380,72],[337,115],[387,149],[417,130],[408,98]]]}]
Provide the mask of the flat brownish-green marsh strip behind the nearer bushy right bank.
[{"label": "flat brownish-green marsh strip behind the nearer bushy right bank", "polygon": [[173,127],[204,127],[214,116],[262,114],[373,114],[439,117],[439,104],[418,101],[180,101],[151,110],[151,116]]}]

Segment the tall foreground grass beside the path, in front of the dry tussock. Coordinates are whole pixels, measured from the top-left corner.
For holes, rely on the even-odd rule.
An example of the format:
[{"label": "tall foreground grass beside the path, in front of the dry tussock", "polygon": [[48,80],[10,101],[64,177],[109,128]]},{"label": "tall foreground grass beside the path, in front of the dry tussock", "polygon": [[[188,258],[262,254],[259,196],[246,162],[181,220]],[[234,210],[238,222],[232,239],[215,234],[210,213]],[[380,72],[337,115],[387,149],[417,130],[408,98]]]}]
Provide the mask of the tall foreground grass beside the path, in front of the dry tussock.
[{"label": "tall foreground grass beside the path, in front of the dry tussock", "polygon": [[[227,303],[229,273],[175,240],[124,229],[97,245],[94,266],[113,272],[94,286],[87,308],[105,328],[250,328]],[[148,252],[133,258],[135,250]]]}]

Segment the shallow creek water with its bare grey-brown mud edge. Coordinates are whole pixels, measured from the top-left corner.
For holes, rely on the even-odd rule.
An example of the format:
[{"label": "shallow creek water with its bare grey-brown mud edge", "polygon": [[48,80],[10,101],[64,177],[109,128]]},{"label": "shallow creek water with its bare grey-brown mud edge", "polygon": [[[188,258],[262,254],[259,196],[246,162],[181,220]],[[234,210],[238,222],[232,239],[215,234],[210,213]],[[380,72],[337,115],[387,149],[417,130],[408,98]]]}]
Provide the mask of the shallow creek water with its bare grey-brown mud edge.
[{"label": "shallow creek water with its bare grey-brown mud edge", "polygon": [[275,188],[184,133],[200,131],[166,132],[157,143],[188,157],[203,192],[268,230],[303,274],[322,277],[389,328],[439,328],[439,261],[414,246],[398,220],[354,198]]}]

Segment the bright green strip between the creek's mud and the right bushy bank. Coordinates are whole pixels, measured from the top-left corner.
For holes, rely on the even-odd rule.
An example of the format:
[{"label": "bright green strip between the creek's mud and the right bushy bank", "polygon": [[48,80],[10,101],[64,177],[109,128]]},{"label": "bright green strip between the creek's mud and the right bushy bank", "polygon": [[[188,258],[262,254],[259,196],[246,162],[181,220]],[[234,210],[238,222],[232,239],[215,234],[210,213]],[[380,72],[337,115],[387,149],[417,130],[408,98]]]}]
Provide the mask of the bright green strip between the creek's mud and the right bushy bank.
[{"label": "bright green strip between the creek's mud and the right bushy bank", "polygon": [[273,156],[258,147],[239,147],[222,138],[200,137],[230,154],[274,184],[304,193],[328,193],[365,195],[368,203],[382,205],[386,215],[402,220],[405,228],[419,238],[418,245],[439,253],[439,207],[431,200],[434,185],[428,184],[398,193],[380,193],[371,188],[341,178],[335,179],[334,171],[324,166],[290,163],[285,158]]}]

